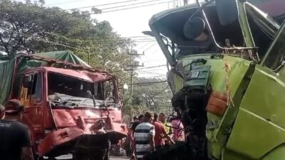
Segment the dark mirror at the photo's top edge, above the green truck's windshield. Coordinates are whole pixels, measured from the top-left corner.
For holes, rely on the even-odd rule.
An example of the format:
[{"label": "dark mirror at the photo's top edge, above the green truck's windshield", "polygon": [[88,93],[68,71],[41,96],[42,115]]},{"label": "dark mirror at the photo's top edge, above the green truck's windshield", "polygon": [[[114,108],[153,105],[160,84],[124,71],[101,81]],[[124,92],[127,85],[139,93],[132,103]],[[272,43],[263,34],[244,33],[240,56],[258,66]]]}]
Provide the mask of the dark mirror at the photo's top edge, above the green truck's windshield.
[{"label": "dark mirror at the photo's top edge, above the green truck's windshield", "polygon": [[232,23],[238,17],[237,0],[216,0],[217,14],[222,25]]}]

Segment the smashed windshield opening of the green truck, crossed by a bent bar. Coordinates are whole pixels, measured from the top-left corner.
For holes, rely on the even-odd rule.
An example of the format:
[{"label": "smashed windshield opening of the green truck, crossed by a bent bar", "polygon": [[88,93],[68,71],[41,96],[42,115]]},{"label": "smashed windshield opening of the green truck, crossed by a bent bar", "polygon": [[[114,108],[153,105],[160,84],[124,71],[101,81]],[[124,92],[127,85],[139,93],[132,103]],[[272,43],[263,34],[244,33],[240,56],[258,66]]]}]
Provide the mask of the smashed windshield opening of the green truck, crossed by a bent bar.
[{"label": "smashed windshield opening of the green truck, crossed by a bent bar", "polygon": [[[190,7],[178,10],[155,21],[154,27],[160,33],[160,38],[170,39],[168,43],[170,45],[167,45],[167,48],[172,55],[175,55],[175,58],[184,55],[222,52],[214,43],[201,11],[197,11],[197,9],[199,8]],[[216,6],[205,6],[204,12],[219,46],[244,46],[244,37],[238,19],[227,25],[222,25],[219,22]]]}]

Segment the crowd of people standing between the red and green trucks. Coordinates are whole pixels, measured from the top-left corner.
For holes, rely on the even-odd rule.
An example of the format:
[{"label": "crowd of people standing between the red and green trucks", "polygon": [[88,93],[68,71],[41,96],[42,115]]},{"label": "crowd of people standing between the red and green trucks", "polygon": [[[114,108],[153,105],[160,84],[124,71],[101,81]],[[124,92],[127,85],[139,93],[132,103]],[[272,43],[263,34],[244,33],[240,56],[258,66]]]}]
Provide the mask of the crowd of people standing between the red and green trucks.
[{"label": "crowd of people standing between the red and green trucks", "polygon": [[183,124],[180,119],[167,121],[165,113],[145,112],[133,117],[129,127],[127,151],[131,159],[141,160],[145,154],[160,149],[162,146],[184,141]]}]

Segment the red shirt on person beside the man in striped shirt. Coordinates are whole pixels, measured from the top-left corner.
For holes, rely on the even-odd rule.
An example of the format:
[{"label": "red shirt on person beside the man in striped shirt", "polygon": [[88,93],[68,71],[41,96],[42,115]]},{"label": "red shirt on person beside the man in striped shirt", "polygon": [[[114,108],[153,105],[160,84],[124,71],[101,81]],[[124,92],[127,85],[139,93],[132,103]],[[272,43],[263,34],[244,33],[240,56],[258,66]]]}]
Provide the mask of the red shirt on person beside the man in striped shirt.
[{"label": "red shirt on person beside the man in striped shirt", "polygon": [[155,146],[165,145],[165,140],[162,138],[166,134],[165,127],[161,122],[153,122],[152,124],[155,126]]}]

